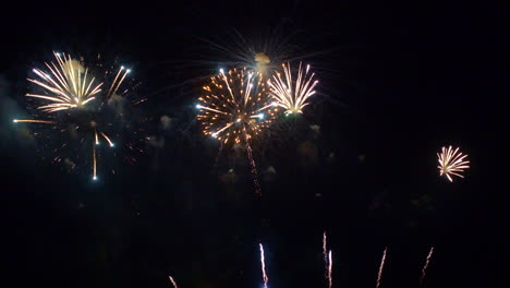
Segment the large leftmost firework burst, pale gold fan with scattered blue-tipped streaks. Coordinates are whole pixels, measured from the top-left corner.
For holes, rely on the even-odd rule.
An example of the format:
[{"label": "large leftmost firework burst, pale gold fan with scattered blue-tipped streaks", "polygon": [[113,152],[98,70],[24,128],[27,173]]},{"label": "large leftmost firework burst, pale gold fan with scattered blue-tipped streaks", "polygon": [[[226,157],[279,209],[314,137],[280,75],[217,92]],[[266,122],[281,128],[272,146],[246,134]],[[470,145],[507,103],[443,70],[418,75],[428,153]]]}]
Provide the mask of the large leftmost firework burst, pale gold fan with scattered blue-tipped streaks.
[{"label": "large leftmost firework burst, pale gold fan with scattered blue-tipped streaks", "polygon": [[[69,55],[53,55],[56,62],[45,63],[45,70],[33,69],[36,77],[27,79],[35,84],[35,92],[26,94],[35,100],[32,118],[14,119],[13,122],[37,124],[34,134],[45,134],[44,130],[48,129],[46,137],[59,142],[51,148],[57,154],[53,160],[74,167],[74,161],[83,158],[90,163],[92,178],[97,180],[97,161],[105,151],[101,144],[106,143],[109,149],[116,146],[114,137],[119,140],[119,133],[132,124],[125,118],[126,105],[136,105],[145,99],[126,99],[125,94],[134,88],[133,85],[120,91],[130,69],[120,67],[99,73],[96,69],[86,68],[83,59],[78,61]],[[102,67],[102,63],[98,65]],[[97,75],[100,75],[100,81]],[[141,136],[137,132],[135,135]],[[125,145],[142,152],[134,143]],[[82,152],[89,156],[82,156]],[[126,156],[126,159],[132,161],[134,158]]]}]

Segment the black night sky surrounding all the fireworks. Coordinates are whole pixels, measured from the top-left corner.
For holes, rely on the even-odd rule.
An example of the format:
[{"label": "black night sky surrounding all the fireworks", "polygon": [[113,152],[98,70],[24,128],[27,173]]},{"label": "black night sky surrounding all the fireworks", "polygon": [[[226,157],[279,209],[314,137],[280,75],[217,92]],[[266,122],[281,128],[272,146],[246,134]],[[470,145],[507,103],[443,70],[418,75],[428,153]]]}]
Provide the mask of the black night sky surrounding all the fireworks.
[{"label": "black night sky surrounding all the fireworks", "polygon": [[[375,287],[386,247],[381,287],[420,287],[430,247],[426,287],[502,287],[505,9],[382,2],[4,4],[2,281],[171,287],[172,275],[181,288],[260,288],[262,242],[270,288],[327,287],[327,231],[333,287]],[[302,116],[254,144],[262,196],[245,153],[220,152],[196,121],[204,80],[232,57],[211,43],[239,50],[235,33],[282,43],[319,80]],[[147,98],[138,116],[157,142],[134,165],[108,159],[93,182],[12,123],[27,113],[28,73],[51,51],[133,67]],[[437,169],[446,145],[471,161],[453,183]]]}]

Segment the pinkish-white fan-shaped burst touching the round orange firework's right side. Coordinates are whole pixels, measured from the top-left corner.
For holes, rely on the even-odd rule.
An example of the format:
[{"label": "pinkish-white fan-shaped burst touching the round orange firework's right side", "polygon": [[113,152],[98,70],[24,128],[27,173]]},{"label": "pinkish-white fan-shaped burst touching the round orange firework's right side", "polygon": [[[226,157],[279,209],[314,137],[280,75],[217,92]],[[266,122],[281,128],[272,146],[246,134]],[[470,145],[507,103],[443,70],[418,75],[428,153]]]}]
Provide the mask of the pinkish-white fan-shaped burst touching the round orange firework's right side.
[{"label": "pinkish-white fan-shaped burst touching the round orange firework's right side", "polygon": [[309,104],[308,98],[316,93],[314,88],[318,81],[314,81],[315,73],[309,73],[309,64],[303,69],[300,62],[296,79],[293,80],[290,63],[283,63],[282,69],[283,76],[277,72],[272,81],[268,81],[271,96],[286,110],[286,115],[302,113]]}]

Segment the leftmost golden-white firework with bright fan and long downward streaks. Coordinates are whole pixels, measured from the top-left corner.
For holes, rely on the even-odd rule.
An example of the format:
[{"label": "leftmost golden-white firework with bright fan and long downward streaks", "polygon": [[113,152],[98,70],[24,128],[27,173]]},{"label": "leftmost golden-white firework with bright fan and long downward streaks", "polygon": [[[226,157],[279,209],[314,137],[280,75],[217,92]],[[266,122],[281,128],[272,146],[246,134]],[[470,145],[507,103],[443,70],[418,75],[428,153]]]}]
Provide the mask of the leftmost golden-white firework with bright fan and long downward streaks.
[{"label": "leftmost golden-white firework with bright fan and long downward streaks", "polygon": [[[92,146],[92,178],[97,180],[97,157],[96,146],[105,140],[110,147],[114,146],[111,139],[110,127],[112,127],[105,115],[112,113],[111,109],[106,108],[109,99],[113,96],[117,99],[123,99],[121,96],[126,93],[125,89],[119,93],[119,88],[124,82],[130,69],[120,67],[116,72],[106,71],[105,79],[97,81],[94,73],[85,68],[83,60],[73,59],[70,55],[53,52],[56,62],[46,62],[46,70],[33,69],[37,77],[27,79],[38,87],[38,93],[28,93],[25,96],[35,98],[36,117],[33,119],[14,119],[14,123],[41,123],[51,124],[51,129],[59,132],[69,132],[69,135],[81,134],[81,143],[90,140]],[[108,75],[113,77],[109,81]],[[113,76],[114,75],[114,76]],[[101,87],[109,85],[106,93]],[[95,105],[92,105],[95,103]],[[108,111],[106,111],[108,110]],[[113,116],[114,117],[114,116]],[[68,140],[60,147],[65,147]],[[58,149],[54,149],[58,151]],[[54,157],[60,161],[61,156]]]}]

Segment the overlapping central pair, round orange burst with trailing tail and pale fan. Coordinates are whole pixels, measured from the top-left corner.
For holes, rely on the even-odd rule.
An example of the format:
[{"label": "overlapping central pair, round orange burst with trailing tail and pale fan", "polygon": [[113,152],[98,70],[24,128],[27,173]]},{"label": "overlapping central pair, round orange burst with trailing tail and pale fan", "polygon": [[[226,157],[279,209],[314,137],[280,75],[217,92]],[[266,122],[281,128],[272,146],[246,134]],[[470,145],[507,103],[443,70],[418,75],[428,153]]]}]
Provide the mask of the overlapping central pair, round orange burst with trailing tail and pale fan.
[{"label": "overlapping central pair, round orange burst with trailing tail and pale fan", "polygon": [[201,104],[196,108],[199,110],[197,120],[205,135],[217,139],[222,145],[245,147],[255,190],[259,193],[251,141],[260,136],[277,120],[280,111],[287,116],[302,113],[309,104],[309,97],[315,94],[318,81],[314,81],[311,67],[303,69],[301,62],[296,75],[293,76],[290,63],[282,63],[283,76],[277,71],[271,80],[265,65],[269,58],[256,53],[255,61],[263,62],[264,65],[254,67],[264,67],[264,70],[244,67],[224,72],[221,69],[203,87],[204,95],[198,98]]}]

